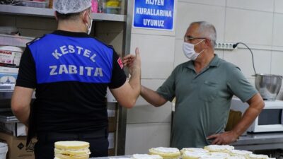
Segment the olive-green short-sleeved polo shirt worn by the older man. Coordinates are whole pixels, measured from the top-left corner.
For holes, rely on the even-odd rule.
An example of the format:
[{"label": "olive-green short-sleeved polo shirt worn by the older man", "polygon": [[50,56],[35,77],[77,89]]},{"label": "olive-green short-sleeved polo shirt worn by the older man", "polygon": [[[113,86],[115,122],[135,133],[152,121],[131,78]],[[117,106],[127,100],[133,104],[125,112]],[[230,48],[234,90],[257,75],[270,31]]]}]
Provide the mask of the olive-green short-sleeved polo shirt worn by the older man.
[{"label": "olive-green short-sleeved polo shirt worn by the older man", "polygon": [[224,132],[232,96],[246,102],[258,93],[237,66],[216,54],[200,73],[193,61],[180,64],[156,92],[166,100],[176,97],[171,134],[176,148],[210,144],[207,136]]}]

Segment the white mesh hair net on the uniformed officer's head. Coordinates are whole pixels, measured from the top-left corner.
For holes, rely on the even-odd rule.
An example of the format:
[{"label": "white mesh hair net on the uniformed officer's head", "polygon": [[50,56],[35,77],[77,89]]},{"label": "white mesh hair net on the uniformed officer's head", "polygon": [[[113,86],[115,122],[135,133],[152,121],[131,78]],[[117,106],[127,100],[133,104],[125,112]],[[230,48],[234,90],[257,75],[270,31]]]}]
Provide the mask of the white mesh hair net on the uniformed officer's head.
[{"label": "white mesh hair net on the uniformed officer's head", "polygon": [[91,0],[54,0],[53,9],[62,14],[79,13],[91,7]]}]

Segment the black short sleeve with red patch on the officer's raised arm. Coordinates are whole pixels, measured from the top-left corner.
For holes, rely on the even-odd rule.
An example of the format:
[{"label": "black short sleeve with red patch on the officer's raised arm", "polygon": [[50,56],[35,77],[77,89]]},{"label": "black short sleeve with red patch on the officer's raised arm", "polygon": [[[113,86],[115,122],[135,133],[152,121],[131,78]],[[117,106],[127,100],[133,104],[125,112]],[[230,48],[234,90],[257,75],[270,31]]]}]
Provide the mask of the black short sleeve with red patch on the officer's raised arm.
[{"label": "black short sleeve with red patch on the officer's raised arm", "polygon": [[113,50],[112,58],[112,78],[111,83],[109,84],[110,89],[119,88],[124,85],[127,80],[125,71],[123,70],[122,59],[118,54]]}]

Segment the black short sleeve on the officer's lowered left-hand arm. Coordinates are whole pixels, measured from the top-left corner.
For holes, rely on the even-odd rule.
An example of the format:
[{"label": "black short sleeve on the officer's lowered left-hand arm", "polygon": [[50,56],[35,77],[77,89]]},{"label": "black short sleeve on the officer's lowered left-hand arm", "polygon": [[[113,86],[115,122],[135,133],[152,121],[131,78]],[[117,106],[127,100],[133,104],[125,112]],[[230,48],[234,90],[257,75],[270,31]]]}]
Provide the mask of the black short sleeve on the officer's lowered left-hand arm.
[{"label": "black short sleeve on the officer's lowered left-hand arm", "polygon": [[27,46],[21,57],[16,86],[35,88],[36,85],[35,61]]}]

